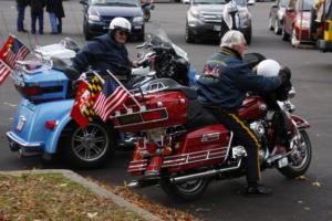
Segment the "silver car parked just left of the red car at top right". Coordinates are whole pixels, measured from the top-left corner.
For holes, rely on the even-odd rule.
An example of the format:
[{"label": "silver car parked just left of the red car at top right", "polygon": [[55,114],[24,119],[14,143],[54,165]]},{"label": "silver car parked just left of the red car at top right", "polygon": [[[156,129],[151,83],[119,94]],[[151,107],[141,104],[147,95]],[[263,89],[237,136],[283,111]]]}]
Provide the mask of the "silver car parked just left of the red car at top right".
[{"label": "silver car parked just left of the red car at top right", "polygon": [[269,29],[276,34],[281,34],[283,14],[289,0],[277,0],[270,8]]}]

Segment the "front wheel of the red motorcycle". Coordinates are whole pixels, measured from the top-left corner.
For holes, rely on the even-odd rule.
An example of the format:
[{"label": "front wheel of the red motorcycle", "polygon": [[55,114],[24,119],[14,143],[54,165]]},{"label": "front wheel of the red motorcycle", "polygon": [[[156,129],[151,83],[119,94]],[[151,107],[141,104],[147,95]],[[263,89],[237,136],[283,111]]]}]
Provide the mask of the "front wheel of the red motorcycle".
[{"label": "front wheel of the red motorcycle", "polygon": [[301,146],[299,147],[299,151],[288,157],[289,165],[287,167],[278,168],[283,176],[290,179],[304,175],[312,158],[311,143],[307,131],[300,130],[300,136]]}]

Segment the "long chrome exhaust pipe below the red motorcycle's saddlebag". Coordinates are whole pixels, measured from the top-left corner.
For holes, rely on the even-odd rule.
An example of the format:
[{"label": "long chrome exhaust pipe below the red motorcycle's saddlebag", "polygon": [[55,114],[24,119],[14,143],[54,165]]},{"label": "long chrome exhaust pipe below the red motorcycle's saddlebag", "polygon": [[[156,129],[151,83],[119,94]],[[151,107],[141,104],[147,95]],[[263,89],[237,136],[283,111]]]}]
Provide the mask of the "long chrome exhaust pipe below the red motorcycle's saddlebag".
[{"label": "long chrome exhaust pipe below the red motorcycle's saddlebag", "polygon": [[179,183],[179,182],[185,182],[185,181],[200,179],[200,178],[214,177],[214,176],[216,176],[218,173],[221,173],[221,172],[225,172],[225,171],[239,169],[240,165],[241,165],[241,160],[239,160],[238,165],[235,166],[235,167],[222,168],[222,169],[211,169],[211,170],[208,170],[208,171],[198,172],[198,173],[194,173],[194,175],[175,177],[175,178],[170,178],[170,182],[172,183]]}]

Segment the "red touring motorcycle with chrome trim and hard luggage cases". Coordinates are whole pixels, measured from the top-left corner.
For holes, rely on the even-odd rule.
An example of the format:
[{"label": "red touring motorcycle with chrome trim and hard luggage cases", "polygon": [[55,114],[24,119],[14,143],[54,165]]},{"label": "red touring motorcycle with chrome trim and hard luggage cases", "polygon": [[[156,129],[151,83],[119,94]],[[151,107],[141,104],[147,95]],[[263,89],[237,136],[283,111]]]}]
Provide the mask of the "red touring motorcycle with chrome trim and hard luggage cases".
[{"label": "red touring motorcycle with chrome trim and hard luggage cases", "polygon": [[[289,93],[289,97],[294,92]],[[200,197],[208,183],[216,179],[231,179],[246,175],[242,146],[198,102],[193,88],[169,78],[154,80],[146,92],[135,93],[136,102],[113,116],[115,128],[137,133],[134,158],[128,172],[137,177],[129,187],[160,185],[177,201]],[[139,106],[137,105],[139,104]],[[305,131],[307,120],[291,114],[294,106],[289,98],[280,103],[293,124],[290,150],[273,155],[273,112],[260,96],[248,96],[239,109],[261,141],[261,168],[277,168],[288,178],[303,175],[311,161],[311,144]],[[148,171],[157,167],[159,172]]]}]

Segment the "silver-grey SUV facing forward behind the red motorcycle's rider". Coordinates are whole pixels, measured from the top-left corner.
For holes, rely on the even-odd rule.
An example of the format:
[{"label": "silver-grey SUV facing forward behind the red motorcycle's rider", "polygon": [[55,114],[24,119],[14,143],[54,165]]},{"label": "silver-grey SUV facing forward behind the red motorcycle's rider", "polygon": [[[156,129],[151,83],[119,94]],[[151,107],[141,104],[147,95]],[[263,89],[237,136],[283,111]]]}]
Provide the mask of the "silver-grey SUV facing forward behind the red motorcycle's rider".
[{"label": "silver-grey SUV facing forward behind the red motorcycle's rider", "polygon": [[[235,0],[239,13],[239,31],[251,42],[251,13],[247,0]],[[186,42],[196,39],[220,39],[222,10],[227,0],[191,0],[187,11]]]}]

